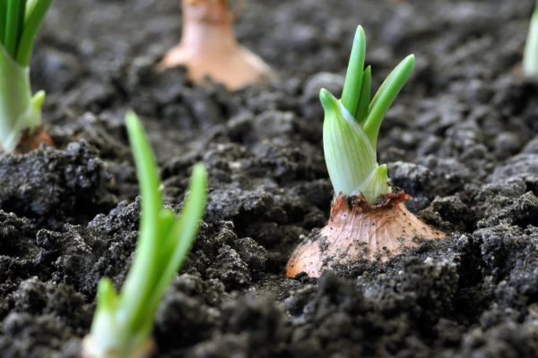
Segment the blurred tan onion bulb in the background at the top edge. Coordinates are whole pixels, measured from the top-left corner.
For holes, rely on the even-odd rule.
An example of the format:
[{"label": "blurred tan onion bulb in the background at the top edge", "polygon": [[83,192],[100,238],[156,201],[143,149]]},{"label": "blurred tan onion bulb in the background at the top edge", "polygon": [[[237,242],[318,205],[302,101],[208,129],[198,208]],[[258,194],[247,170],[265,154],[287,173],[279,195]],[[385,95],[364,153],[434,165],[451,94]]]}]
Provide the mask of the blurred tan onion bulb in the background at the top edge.
[{"label": "blurred tan onion bulb in the background at the top edge", "polygon": [[205,76],[221,82],[229,90],[273,78],[265,62],[241,47],[232,25],[235,14],[229,0],[182,0],[183,34],[181,42],[165,55],[159,69],[184,64],[195,83]]}]

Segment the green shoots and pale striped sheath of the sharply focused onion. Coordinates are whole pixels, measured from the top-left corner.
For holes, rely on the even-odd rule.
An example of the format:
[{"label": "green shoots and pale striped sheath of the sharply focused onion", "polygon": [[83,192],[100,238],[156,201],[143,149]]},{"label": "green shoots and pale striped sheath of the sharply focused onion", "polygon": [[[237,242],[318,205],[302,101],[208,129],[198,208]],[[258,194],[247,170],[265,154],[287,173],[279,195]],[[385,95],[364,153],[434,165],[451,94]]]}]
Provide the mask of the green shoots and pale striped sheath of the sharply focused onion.
[{"label": "green shoots and pale striped sheath of the sharply focused onion", "polygon": [[369,205],[391,192],[386,165],[377,165],[377,134],[386,112],[414,69],[414,55],[407,56],[370,102],[370,67],[364,70],[366,38],[359,26],[355,33],[342,99],[322,89],[325,110],[323,144],[325,162],[336,196],[362,193]]}]

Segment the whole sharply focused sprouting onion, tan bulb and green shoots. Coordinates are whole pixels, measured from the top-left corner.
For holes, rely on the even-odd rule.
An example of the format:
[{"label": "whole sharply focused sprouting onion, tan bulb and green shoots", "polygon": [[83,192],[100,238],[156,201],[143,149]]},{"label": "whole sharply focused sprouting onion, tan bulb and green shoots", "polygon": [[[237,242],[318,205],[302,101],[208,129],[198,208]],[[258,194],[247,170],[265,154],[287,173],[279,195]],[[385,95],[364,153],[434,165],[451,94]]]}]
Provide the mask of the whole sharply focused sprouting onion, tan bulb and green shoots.
[{"label": "whole sharply focused sprouting onion, tan bulb and green shoots", "polygon": [[334,186],[331,218],[319,234],[310,235],[293,251],[287,275],[306,272],[319,277],[324,269],[352,267],[359,260],[387,260],[415,239],[438,238],[441,233],[405,209],[409,199],[393,192],[386,165],[378,166],[377,134],[381,122],[414,68],[410,55],[389,74],[370,102],[370,67],[364,70],[366,38],[357,29],[342,99],[321,90],[325,109],[325,162]]}]

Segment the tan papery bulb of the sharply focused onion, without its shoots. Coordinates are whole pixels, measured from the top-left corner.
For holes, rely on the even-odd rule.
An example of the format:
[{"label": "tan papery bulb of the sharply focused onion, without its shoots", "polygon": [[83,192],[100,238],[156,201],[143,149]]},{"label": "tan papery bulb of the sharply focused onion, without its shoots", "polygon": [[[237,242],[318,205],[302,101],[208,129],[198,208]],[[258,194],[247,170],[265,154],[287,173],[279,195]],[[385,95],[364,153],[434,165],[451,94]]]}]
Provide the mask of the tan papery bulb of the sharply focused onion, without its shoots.
[{"label": "tan papery bulb of the sharply focused onion, without its shoots", "polygon": [[445,234],[422,223],[405,208],[409,194],[386,194],[383,205],[369,206],[362,194],[333,200],[331,218],[319,234],[311,234],[291,254],[286,275],[306,272],[319,277],[334,265],[353,267],[360,260],[381,260],[418,246],[417,238]]}]

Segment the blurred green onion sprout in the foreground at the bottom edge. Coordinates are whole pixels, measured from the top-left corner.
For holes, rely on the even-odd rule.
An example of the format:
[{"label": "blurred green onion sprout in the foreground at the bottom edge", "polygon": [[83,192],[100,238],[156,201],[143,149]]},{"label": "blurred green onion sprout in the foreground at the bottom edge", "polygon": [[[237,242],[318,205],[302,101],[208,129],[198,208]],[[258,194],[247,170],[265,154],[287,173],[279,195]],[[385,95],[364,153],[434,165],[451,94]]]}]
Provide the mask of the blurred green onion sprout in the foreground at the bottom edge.
[{"label": "blurred green onion sprout in the foreground at the bottom edge", "polygon": [[126,115],[126,124],[143,198],[140,235],[120,294],[108,278],[100,281],[91,333],[83,341],[85,358],[152,355],[150,333],[155,311],[185,260],[204,214],[204,165],[195,165],[187,202],[180,217],[174,217],[172,210],[162,208],[157,165],[142,125],[134,113]]}]

